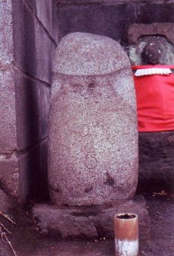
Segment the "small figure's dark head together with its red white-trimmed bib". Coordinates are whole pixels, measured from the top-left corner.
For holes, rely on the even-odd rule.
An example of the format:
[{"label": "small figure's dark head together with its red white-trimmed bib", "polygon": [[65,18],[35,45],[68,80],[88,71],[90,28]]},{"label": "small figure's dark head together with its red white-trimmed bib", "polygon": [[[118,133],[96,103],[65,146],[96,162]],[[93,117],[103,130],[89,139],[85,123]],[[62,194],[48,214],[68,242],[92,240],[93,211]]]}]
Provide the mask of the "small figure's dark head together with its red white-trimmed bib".
[{"label": "small figure's dark head together with its red white-trimmed bib", "polygon": [[144,65],[133,66],[138,131],[173,131],[174,65],[162,65],[163,47],[152,37],[141,52]]}]

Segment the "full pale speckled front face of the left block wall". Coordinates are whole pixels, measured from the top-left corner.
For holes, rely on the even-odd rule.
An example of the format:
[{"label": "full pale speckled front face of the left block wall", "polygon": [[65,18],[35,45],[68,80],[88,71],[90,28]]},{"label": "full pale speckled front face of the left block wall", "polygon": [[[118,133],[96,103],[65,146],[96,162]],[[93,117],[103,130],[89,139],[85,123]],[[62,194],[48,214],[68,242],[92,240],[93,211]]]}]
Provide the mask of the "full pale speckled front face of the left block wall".
[{"label": "full pale speckled front face of the left block wall", "polygon": [[11,1],[0,2],[0,188],[19,195]]}]

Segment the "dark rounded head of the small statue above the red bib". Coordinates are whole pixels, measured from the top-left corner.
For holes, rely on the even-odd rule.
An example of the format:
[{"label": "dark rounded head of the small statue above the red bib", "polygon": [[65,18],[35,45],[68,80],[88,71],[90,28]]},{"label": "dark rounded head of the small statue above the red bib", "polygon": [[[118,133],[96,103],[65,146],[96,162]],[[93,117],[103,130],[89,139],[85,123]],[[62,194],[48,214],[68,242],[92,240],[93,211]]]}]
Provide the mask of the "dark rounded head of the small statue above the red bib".
[{"label": "dark rounded head of the small statue above the red bib", "polygon": [[160,43],[157,40],[149,41],[142,52],[144,64],[159,64],[162,53]]}]

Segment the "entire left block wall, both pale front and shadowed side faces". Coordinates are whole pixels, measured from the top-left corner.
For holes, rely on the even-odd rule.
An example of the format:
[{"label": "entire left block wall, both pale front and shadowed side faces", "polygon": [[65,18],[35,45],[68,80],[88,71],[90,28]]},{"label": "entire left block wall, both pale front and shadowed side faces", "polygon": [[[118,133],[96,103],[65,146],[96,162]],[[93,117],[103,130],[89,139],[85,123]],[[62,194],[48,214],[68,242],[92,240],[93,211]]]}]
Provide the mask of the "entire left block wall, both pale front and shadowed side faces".
[{"label": "entire left block wall, both pale front and shadowed side faces", "polygon": [[0,3],[0,188],[20,203],[44,195],[51,61],[58,41],[54,1]]}]

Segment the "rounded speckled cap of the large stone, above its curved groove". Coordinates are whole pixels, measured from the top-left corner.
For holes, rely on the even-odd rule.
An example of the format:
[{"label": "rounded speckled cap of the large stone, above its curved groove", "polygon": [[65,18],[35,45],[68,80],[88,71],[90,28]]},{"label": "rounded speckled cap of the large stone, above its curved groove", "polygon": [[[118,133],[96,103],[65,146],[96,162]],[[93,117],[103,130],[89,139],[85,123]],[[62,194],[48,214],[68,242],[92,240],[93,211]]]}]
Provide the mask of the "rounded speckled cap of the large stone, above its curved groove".
[{"label": "rounded speckled cap of the large stone, above its curved groove", "polygon": [[59,74],[110,74],[129,67],[126,52],[115,40],[92,33],[70,33],[58,44],[53,71]]}]

